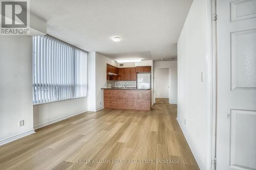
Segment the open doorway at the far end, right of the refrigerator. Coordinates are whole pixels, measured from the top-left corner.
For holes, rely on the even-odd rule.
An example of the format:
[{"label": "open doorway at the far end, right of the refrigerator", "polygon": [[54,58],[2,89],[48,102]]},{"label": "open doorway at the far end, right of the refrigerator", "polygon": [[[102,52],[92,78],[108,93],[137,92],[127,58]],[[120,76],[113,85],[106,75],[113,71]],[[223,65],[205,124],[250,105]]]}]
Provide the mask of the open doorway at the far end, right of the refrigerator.
[{"label": "open doorway at the far end, right of the refrigerator", "polygon": [[170,101],[170,69],[155,68],[154,103],[169,103]]}]

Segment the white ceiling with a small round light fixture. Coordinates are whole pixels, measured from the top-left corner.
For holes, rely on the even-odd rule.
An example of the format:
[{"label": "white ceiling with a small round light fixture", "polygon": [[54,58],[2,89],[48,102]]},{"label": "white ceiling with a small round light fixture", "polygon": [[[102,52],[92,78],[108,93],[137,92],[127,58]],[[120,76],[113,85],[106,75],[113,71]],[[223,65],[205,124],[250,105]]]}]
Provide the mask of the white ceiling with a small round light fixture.
[{"label": "white ceiling with a small round light fixture", "polygon": [[[32,0],[47,33],[110,58],[171,60],[193,0]],[[120,36],[120,42],[111,40]]]}]

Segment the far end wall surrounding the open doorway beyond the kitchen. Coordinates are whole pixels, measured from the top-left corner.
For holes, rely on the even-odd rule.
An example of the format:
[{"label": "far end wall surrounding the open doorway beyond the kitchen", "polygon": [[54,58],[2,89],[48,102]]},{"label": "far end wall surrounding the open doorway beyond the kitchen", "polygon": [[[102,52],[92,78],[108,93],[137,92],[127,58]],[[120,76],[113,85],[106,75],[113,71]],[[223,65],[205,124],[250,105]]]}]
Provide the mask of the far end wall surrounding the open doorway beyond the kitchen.
[{"label": "far end wall surrounding the open doorway beyond the kitchen", "polygon": [[[172,104],[177,104],[177,61],[155,61],[154,62],[154,69],[156,68],[164,68],[168,67],[170,68],[170,103]],[[154,83],[155,83],[155,71],[154,71]],[[154,86],[155,88],[155,86]],[[154,89],[155,93],[155,89]],[[154,103],[155,103],[155,98],[154,96]]]}]

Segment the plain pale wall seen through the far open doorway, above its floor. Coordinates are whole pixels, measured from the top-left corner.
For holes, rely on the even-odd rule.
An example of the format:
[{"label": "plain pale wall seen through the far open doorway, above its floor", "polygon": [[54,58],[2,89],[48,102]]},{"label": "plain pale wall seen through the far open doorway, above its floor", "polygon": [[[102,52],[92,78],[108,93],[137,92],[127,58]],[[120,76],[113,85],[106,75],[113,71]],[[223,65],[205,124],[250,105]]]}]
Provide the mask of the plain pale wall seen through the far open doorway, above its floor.
[{"label": "plain pale wall seen through the far open doorway, above its floor", "polygon": [[169,68],[155,69],[155,98],[169,98]]}]

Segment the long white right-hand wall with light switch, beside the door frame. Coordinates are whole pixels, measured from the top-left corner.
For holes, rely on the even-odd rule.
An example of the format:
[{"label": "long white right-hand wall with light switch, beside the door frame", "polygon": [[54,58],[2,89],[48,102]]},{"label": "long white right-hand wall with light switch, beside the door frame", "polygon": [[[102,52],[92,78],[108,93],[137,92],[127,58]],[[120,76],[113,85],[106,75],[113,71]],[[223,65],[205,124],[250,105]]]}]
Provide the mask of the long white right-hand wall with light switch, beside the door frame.
[{"label": "long white right-hand wall with light switch, beside the door frame", "polygon": [[[201,169],[205,167],[206,1],[194,0],[178,40],[178,122]],[[186,124],[185,124],[186,120]]]}]

